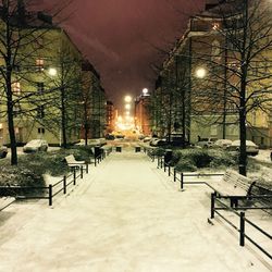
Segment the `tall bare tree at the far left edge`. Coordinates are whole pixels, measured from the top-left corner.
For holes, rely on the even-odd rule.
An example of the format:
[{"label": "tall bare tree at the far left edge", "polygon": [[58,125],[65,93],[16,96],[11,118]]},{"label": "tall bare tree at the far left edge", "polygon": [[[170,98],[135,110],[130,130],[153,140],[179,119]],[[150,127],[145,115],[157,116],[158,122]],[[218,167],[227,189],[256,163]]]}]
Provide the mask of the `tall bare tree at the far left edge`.
[{"label": "tall bare tree at the far left edge", "polygon": [[38,50],[32,45],[50,24],[41,13],[36,15],[26,12],[22,0],[2,0],[0,5],[1,114],[8,119],[12,164],[17,163],[14,118],[20,114],[22,96],[30,96],[21,91],[21,82],[27,81],[33,69],[25,63]]}]

